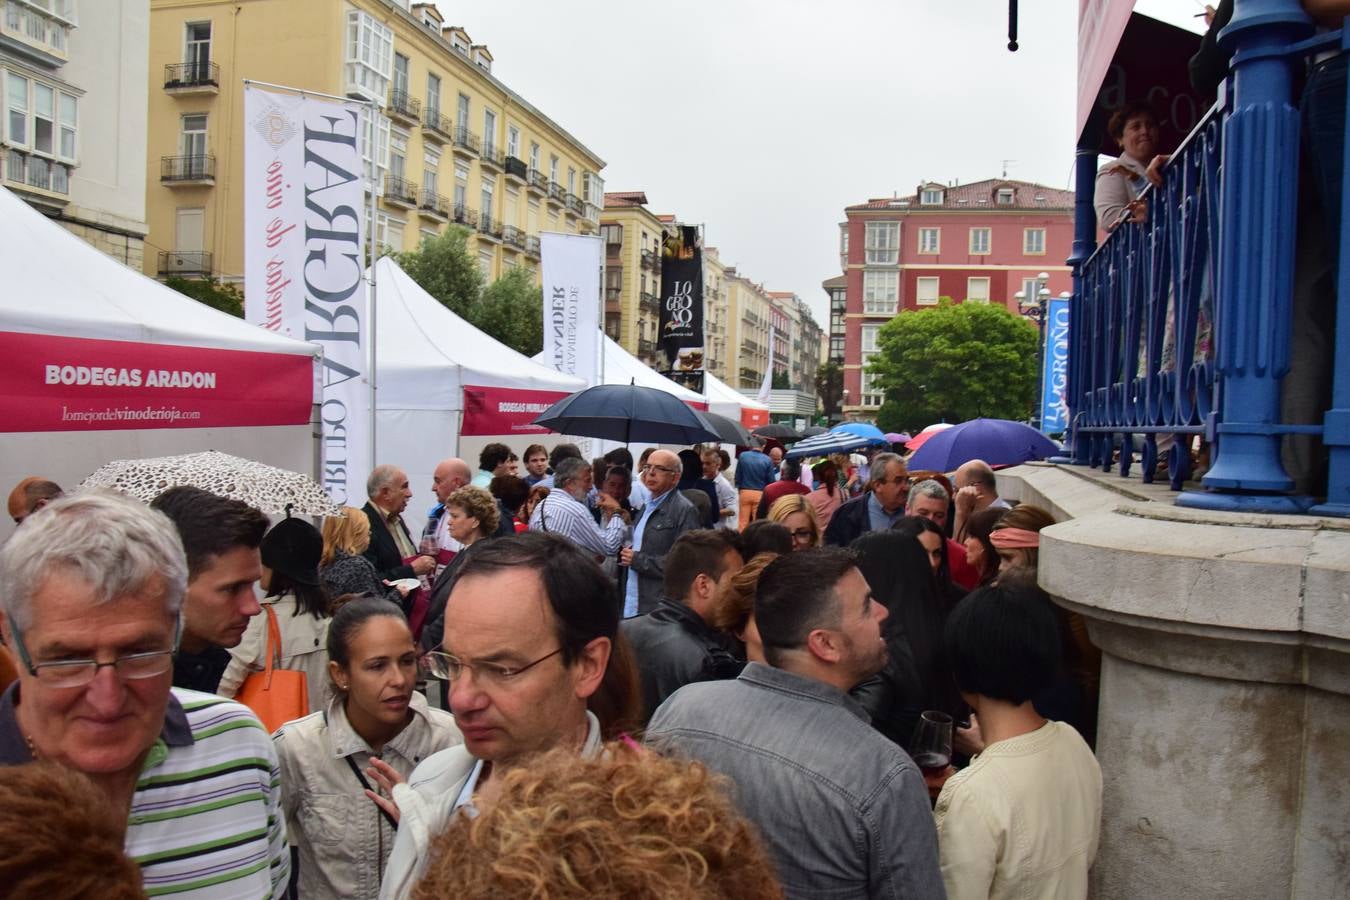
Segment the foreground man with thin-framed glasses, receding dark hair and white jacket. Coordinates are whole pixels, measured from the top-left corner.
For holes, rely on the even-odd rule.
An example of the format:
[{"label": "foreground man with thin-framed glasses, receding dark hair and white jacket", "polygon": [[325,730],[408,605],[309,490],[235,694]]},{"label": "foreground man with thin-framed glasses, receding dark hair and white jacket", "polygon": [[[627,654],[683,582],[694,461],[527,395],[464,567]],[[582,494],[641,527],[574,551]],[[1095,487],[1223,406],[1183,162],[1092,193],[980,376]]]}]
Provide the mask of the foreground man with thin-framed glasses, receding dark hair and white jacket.
[{"label": "foreground man with thin-framed glasses, receding dark hair and white jacket", "polygon": [[400,818],[383,900],[408,897],[456,810],[494,803],[501,779],[531,754],[567,746],[591,757],[603,734],[632,727],[632,656],[617,636],[613,583],[570,541],[526,532],[466,557],[443,644],[424,660],[450,681],[464,743],[427,757],[406,784],[378,762],[370,769],[393,796],[377,803]]}]

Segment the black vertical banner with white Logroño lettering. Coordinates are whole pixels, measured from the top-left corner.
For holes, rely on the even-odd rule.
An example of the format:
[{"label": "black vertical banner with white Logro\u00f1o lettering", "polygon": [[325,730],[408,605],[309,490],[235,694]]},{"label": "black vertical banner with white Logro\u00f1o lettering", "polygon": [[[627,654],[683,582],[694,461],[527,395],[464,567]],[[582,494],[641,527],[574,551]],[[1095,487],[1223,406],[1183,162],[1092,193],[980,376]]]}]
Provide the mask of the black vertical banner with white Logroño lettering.
[{"label": "black vertical banner with white Logro\u00f1o lettering", "polygon": [[702,393],[703,248],[694,225],[676,225],[662,244],[660,341],[670,376]]}]

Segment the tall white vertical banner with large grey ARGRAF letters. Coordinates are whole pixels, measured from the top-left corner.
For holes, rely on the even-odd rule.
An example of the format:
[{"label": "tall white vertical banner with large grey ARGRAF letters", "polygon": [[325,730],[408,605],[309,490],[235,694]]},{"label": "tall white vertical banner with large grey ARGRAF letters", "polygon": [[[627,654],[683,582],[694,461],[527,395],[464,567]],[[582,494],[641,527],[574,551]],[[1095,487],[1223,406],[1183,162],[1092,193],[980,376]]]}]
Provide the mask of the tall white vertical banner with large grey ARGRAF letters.
[{"label": "tall white vertical banner with large grey ARGRAF letters", "polygon": [[364,107],[244,86],[244,317],[319,344],[323,467],[360,506],[370,459]]}]

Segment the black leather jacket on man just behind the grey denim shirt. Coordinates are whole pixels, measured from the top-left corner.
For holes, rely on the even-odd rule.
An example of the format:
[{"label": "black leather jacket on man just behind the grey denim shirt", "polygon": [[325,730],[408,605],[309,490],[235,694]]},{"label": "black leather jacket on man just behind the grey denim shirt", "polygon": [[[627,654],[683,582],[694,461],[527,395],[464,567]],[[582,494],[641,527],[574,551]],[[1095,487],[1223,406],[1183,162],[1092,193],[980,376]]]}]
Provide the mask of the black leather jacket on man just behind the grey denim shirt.
[{"label": "black leather jacket on man just behind the grey denim shirt", "polygon": [[734,642],[679,600],[662,598],[655,610],[618,627],[633,645],[643,677],[644,722],[686,684],[734,679],[745,668]]}]

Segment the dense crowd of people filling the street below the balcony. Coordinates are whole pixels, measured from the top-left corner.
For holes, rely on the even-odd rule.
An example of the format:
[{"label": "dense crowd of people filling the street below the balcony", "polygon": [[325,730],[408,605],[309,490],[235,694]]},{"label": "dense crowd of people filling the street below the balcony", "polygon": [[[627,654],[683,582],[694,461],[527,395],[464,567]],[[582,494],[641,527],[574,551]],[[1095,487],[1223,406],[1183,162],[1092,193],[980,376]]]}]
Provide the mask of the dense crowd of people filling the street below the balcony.
[{"label": "dense crowd of people filling the street below the balcony", "polygon": [[[7,896],[90,896],[49,869],[109,841],[105,896],[1087,896],[1098,660],[1035,586],[1054,518],[979,460],[764,451],[491,444],[420,534],[396,464],[321,529],[26,479],[0,815],[88,824],[0,828]],[[269,739],[273,668],[308,714]]]}]

